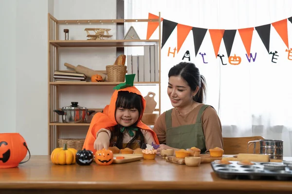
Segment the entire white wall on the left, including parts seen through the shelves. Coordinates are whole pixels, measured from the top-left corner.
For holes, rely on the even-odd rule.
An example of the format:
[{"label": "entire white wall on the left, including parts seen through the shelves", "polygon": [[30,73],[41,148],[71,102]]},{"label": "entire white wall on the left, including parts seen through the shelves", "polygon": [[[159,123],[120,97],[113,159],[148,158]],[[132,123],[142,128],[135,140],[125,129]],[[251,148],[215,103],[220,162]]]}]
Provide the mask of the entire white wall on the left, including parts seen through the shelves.
[{"label": "entire white wall on the left, including parts seen through the shelves", "polygon": [[[48,12],[57,19],[115,19],[116,1],[0,1],[0,21],[3,27],[0,31],[0,105],[2,108],[0,132],[20,133],[26,140],[32,155],[47,155],[48,150]],[[112,33],[115,34],[115,28],[112,29]],[[76,35],[80,35],[81,32],[85,32],[84,29]],[[71,37],[74,37],[73,34],[74,30],[70,33]],[[75,38],[81,39],[78,36]],[[85,38],[86,35],[83,36],[83,39]],[[86,64],[92,68],[105,69],[105,65],[114,63],[116,57],[115,48],[81,49],[80,53],[78,49],[73,49],[73,52],[69,50],[60,49],[60,54],[62,54],[60,66],[64,62],[69,62],[73,65]],[[81,106],[101,108],[98,102],[106,102],[107,98],[101,99],[100,91],[107,91],[108,95],[112,93],[112,88],[103,87],[60,87],[60,90],[62,89],[60,107],[68,106],[71,101],[77,100]],[[84,94],[89,95],[90,100],[86,99]],[[80,130],[76,129],[76,131]],[[66,135],[72,135],[72,130],[69,133],[67,131]]]}]

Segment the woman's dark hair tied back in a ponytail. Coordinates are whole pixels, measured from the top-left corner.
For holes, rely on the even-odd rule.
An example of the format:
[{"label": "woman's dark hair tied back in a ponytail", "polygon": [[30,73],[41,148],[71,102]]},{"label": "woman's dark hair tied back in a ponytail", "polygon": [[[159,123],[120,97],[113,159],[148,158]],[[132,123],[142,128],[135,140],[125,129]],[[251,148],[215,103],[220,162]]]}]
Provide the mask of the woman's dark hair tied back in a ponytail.
[{"label": "woman's dark hair tied back in a ponytail", "polygon": [[168,78],[171,76],[180,76],[190,86],[192,91],[195,91],[199,86],[199,91],[193,100],[199,103],[203,103],[206,97],[206,81],[200,74],[199,69],[193,63],[181,62],[173,67],[168,72]]}]

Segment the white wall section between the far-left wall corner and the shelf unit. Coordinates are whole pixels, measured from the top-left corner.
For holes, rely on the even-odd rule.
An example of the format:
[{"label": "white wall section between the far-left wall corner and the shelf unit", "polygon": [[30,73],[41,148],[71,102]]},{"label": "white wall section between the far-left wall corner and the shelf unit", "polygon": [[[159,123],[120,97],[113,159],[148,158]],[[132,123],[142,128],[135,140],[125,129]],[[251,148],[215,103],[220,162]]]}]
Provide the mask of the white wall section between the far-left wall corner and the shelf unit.
[{"label": "white wall section between the far-left wall corner and the shelf unit", "polygon": [[17,1],[16,132],[31,154],[47,151],[48,0]]}]

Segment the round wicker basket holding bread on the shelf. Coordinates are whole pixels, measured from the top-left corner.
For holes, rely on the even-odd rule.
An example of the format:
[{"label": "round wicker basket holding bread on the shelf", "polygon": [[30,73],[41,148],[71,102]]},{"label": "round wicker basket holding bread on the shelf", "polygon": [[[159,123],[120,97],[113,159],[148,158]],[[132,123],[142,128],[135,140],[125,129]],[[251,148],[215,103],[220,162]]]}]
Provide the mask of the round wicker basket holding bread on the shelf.
[{"label": "round wicker basket holding bread on the shelf", "polygon": [[125,65],[107,65],[108,81],[124,82],[127,73],[127,66]]}]

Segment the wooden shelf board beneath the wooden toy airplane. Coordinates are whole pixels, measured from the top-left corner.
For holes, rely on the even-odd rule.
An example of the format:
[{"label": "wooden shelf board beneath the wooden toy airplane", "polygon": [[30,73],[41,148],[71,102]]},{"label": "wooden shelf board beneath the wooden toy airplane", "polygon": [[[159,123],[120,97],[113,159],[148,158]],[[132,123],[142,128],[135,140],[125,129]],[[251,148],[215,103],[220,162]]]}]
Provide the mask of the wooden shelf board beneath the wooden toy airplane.
[{"label": "wooden shelf board beneath the wooden toy airplane", "polygon": [[132,47],[158,43],[159,40],[50,40],[57,47]]}]

